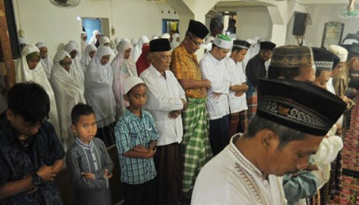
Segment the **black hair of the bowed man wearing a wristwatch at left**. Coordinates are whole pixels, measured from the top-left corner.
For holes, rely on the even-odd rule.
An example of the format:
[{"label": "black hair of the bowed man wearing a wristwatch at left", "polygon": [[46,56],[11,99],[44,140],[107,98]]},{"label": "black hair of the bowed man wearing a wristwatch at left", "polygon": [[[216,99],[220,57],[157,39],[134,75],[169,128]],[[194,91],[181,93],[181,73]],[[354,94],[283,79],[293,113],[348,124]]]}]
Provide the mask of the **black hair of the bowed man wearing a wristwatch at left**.
[{"label": "black hair of the bowed man wearing a wristwatch at left", "polygon": [[18,83],[8,93],[8,109],[25,121],[36,124],[48,118],[50,99],[42,86],[31,81]]}]

